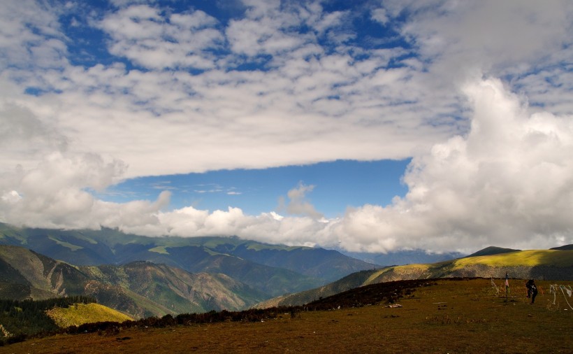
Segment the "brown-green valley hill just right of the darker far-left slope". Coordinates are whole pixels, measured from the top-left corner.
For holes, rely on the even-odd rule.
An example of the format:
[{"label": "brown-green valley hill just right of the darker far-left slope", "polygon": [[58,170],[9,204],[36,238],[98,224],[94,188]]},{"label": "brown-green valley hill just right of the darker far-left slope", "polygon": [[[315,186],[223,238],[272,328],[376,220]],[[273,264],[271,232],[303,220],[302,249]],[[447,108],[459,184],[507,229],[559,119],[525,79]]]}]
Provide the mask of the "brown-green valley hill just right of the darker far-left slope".
[{"label": "brown-green valley hill just right of the darker far-left slope", "polygon": [[131,262],[122,266],[80,267],[80,270],[97,282],[93,288],[87,287],[89,295],[107,299],[114,308],[121,309],[122,300],[116,295],[121,292],[146,309],[138,317],[245,309],[264,297],[224,274],[193,274],[165,264]]}]

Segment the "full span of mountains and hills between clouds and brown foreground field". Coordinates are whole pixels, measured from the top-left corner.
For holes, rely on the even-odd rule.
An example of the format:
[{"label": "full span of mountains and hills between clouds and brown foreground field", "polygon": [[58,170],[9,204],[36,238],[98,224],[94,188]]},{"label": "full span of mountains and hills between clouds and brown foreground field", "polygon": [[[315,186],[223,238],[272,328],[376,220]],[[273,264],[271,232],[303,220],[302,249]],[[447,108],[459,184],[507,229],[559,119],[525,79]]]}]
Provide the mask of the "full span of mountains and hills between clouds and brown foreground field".
[{"label": "full span of mountains and hills between clouds and brown foreground field", "polygon": [[571,245],[489,247],[442,262],[382,267],[335,250],[238,237],[146,237],[117,229],[0,223],[0,298],[83,295],[133,318],[300,305],[351,288],[440,277],[573,279]]}]

